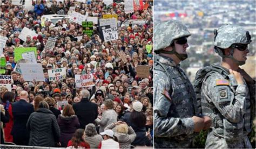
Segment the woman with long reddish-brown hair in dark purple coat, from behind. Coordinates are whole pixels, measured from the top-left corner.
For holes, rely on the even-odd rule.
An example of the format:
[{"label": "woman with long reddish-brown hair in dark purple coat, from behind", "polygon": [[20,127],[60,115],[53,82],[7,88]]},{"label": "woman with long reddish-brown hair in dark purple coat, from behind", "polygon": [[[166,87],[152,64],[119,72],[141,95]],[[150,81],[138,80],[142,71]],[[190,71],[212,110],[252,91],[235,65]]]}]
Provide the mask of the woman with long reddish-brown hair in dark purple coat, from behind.
[{"label": "woman with long reddish-brown hair in dark purple coat, from behind", "polygon": [[72,105],[65,105],[62,115],[59,115],[57,121],[60,128],[60,144],[62,147],[66,147],[68,145],[68,141],[80,126]]}]

